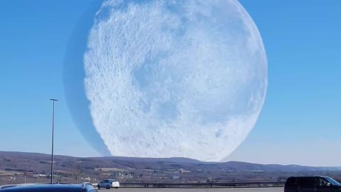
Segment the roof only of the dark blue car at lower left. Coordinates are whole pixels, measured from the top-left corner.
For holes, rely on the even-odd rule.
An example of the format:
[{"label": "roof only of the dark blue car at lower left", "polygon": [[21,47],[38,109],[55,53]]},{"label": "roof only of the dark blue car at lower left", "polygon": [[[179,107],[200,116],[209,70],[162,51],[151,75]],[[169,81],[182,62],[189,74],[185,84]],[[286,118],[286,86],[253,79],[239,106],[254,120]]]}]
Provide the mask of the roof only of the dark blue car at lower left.
[{"label": "roof only of the dark blue car at lower left", "polygon": [[11,186],[9,188],[0,189],[1,192],[15,192],[15,191],[27,191],[27,192],[39,192],[39,191],[75,191],[81,192],[82,186],[80,184],[36,184],[36,185],[23,185],[23,186]]}]

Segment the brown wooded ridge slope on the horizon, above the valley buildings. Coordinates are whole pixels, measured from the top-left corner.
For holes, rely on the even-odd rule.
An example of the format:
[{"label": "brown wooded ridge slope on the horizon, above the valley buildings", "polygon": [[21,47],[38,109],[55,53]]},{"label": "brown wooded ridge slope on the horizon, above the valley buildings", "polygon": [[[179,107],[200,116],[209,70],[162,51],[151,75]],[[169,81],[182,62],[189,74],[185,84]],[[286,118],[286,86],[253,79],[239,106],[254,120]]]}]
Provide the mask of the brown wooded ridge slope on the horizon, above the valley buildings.
[{"label": "brown wooded ridge slope on the horizon, above the valley buildings", "polygon": [[[67,169],[67,165],[87,162],[88,166],[98,167],[117,167],[124,169],[146,169],[155,168],[156,166],[164,166],[164,169],[224,169],[229,171],[341,171],[340,167],[314,167],[314,166],[298,166],[298,165],[279,165],[279,164],[251,164],[239,161],[229,162],[203,162],[195,159],[182,157],[173,158],[138,158],[124,156],[104,156],[104,157],[74,157],[55,155],[54,160],[57,162],[55,166],[62,166]],[[6,166],[16,166],[22,169],[28,169],[36,164],[49,164],[50,154],[27,153],[27,152],[12,152],[0,151],[0,169]],[[64,165],[64,166],[63,166]]]}]

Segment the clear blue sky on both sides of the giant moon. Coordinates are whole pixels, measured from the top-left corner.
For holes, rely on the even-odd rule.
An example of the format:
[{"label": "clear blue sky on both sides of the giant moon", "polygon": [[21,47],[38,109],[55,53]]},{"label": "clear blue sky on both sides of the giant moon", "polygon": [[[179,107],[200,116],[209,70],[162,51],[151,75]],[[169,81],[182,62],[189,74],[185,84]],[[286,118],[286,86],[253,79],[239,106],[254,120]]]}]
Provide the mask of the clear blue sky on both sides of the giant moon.
[{"label": "clear blue sky on both sides of the giant moon", "polygon": [[[341,166],[341,1],[240,1],[259,28],[269,87],[256,127],[229,159]],[[99,156],[63,90],[70,35],[90,0],[0,1],[0,150]]]}]

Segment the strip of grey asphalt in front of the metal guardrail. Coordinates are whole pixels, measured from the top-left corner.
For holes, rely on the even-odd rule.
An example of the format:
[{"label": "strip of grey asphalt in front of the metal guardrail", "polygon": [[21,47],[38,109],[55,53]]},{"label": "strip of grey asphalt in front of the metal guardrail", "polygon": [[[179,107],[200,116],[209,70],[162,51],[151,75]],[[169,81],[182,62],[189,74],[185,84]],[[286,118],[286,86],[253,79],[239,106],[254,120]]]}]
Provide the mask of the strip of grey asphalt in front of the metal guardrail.
[{"label": "strip of grey asphalt in front of the metal guardrail", "polygon": [[119,188],[99,192],[283,192],[283,188]]}]

